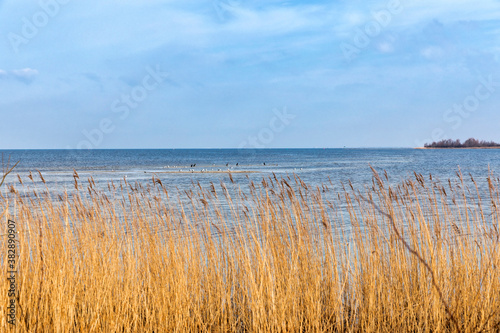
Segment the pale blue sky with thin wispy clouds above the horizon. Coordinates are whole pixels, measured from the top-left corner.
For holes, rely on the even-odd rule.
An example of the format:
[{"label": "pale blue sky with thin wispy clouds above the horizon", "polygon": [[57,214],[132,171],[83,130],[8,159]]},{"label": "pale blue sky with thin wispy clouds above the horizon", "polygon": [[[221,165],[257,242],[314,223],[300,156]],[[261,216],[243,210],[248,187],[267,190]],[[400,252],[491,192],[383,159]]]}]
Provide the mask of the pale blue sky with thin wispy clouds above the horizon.
[{"label": "pale blue sky with thin wispy clouds above the horizon", "polygon": [[0,0],[0,149],[500,142],[499,0]]}]

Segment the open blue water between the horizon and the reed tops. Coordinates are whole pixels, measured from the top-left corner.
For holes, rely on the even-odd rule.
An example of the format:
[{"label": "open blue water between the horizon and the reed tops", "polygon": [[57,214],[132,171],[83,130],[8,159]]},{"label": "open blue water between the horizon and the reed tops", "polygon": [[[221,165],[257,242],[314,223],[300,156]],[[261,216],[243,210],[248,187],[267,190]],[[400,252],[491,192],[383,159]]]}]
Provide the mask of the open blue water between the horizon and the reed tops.
[{"label": "open blue water between the horizon and the reed tops", "polygon": [[[7,182],[17,183],[19,174],[27,181],[29,171],[39,170],[47,186],[55,191],[73,187],[73,169],[81,176],[93,176],[100,184],[109,180],[148,182],[153,174],[171,187],[192,182],[223,180],[227,174],[192,171],[251,171],[233,173],[237,183],[248,178],[259,181],[275,173],[278,177],[297,174],[308,184],[320,185],[351,181],[362,188],[371,184],[370,165],[386,170],[391,182],[413,176],[413,172],[446,181],[456,178],[459,167],[464,175],[479,181],[500,171],[500,150],[417,150],[417,149],[165,149],[165,150],[3,150],[4,160],[20,160]],[[236,165],[238,163],[238,166]],[[264,165],[265,163],[265,165]],[[191,167],[196,164],[196,167]],[[228,166],[226,166],[228,164]],[[179,173],[179,171],[181,173]],[[35,182],[40,182],[34,174]]]}]

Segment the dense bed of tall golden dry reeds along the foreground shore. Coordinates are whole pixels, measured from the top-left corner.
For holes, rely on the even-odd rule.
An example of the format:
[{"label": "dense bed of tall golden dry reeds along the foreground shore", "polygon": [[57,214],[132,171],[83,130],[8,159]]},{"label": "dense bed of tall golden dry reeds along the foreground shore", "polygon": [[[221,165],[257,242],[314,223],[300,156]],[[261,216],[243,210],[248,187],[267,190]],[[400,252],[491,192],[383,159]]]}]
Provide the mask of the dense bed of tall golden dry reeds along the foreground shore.
[{"label": "dense bed of tall golden dry reeds along the foreground shore", "polygon": [[177,194],[155,177],[107,191],[74,179],[64,195],[21,177],[3,194],[0,249],[15,220],[20,256],[17,325],[2,311],[1,331],[500,330],[492,175],[485,198],[461,174],[390,186],[374,173],[339,190],[271,176]]}]

